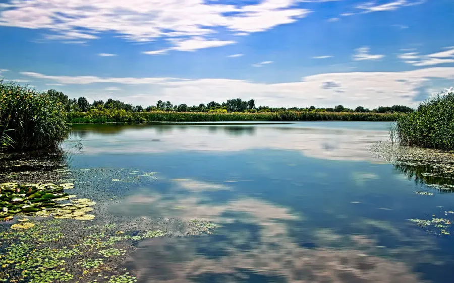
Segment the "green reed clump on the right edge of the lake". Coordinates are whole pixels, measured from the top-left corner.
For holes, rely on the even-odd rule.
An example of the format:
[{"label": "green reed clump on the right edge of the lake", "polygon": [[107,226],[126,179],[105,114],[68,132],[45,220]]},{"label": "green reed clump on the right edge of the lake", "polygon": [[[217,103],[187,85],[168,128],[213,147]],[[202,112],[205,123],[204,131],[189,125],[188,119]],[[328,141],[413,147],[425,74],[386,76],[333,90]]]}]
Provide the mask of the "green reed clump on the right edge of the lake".
[{"label": "green reed clump on the right edge of the lake", "polygon": [[400,116],[395,132],[404,146],[454,150],[454,93],[428,99]]}]

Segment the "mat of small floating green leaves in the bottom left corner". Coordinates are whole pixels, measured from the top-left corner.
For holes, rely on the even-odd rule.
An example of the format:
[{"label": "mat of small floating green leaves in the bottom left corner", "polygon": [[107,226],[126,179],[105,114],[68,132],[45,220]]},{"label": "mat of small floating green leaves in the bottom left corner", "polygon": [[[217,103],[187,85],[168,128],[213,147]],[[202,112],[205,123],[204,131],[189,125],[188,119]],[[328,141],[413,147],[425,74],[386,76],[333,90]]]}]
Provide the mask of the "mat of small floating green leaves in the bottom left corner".
[{"label": "mat of small floating green leaves in the bottom left corner", "polygon": [[[166,234],[160,230],[122,231],[116,224],[87,226],[88,223],[74,231],[65,229],[63,224],[62,220],[44,219],[27,230],[0,231],[0,248],[4,251],[0,254],[0,278],[8,282],[53,283],[73,279],[97,282],[96,277],[101,276],[105,282],[135,282],[136,277],[117,268],[129,252],[128,247],[132,248],[131,241]],[[55,234],[61,236],[52,236]]]}]

